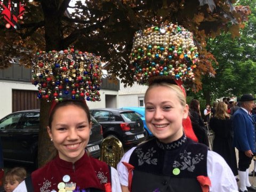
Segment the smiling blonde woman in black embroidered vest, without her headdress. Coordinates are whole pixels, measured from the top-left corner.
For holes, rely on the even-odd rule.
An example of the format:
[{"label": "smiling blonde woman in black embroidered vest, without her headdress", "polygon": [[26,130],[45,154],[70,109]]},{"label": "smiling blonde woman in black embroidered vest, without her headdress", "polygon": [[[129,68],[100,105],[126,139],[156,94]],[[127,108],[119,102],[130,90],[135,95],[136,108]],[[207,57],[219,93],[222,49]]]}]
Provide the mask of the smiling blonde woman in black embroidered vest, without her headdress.
[{"label": "smiling blonde woman in black embroidered vest, without her headdress", "polygon": [[127,151],[118,163],[122,191],[237,191],[226,161],[184,134],[188,105],[169,78],[151,77],[145,117],[155,138]]}]

